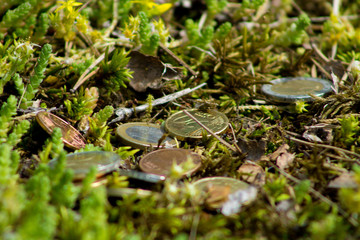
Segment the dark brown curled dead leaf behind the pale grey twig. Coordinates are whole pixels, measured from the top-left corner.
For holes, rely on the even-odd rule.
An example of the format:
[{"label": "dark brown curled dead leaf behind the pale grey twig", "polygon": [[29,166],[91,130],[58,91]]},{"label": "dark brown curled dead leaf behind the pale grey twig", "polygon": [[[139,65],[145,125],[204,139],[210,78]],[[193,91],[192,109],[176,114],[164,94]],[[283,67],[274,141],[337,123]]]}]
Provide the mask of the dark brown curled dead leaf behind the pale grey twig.
[{"label": "dark brown curled dead leaf behind the pale grey twig", "polygon": [[158,57],[144,55],[138,51],[132,51],[129,56],[127,68],[134,72],[130,86],[137,92],[145,92],[148,87],[160,89],[163,85],[162,79],[181,77],[177,68],[165,65]]}]

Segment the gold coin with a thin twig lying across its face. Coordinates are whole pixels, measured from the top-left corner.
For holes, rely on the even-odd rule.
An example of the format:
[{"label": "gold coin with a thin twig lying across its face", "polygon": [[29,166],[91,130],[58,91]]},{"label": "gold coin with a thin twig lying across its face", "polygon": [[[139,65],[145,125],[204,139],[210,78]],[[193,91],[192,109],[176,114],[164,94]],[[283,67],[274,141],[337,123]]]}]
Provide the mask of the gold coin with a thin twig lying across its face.
[{"label": "gold coin with a thin twig lying across its face", "polygon": [[[225,114],[216,110],[200,111],[198,109],[188,110],[194,118],[208,127],[215,134],[222,133],[228,127],[229,120]],[[177,112],[165,121],[165,130],[179,140],[201,139],[206,130],[191,119],[184,112]],[[210,136],[209,133],[207,133]]]}]

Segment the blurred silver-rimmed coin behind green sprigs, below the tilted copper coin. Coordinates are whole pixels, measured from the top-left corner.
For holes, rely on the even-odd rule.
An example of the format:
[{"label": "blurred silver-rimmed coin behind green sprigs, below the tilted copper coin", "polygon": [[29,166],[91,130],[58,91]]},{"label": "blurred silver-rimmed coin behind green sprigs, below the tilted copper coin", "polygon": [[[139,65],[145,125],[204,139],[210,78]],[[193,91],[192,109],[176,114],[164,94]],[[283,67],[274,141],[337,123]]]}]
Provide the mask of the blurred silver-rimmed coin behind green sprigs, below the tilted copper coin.
[{"label": "blurred silver-rimmed coin behind green sprigs, below the tilted copper coin", "polygon": [[[90,151],[81,153],[71,153],[66,155],[66,168],[74,171],[74,180],[83,179],[95,166],[97,177],[116,170],[120,166],[120,156],[113,152]],[[58,158],[49,162],[50,167],[54,167]]]}]

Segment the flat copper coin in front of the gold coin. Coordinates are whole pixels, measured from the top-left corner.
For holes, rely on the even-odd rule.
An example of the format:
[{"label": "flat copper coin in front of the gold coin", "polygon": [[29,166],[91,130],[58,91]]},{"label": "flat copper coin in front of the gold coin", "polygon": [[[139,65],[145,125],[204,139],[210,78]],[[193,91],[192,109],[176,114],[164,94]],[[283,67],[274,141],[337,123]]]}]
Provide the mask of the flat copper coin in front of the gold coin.
[{"label": "flat copper coin in front of the gold coin", "polygon": [[184,173],[184,176],[191,175],[200,168],[201,157],[188,149],[167,148],[153,151],[140,160],[139,166],[143,172],[167,176],[174,162],[179,165],[186,162],[189,157],[192,159],[194,167]]}]

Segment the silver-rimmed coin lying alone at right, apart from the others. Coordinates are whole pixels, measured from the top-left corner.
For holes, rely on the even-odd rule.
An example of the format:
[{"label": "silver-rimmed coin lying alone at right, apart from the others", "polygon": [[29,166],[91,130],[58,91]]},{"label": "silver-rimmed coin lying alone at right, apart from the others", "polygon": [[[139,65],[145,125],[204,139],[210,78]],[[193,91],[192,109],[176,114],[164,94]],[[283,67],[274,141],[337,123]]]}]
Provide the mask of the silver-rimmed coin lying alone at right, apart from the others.
[{"label": "silver-rimmed coin lying alone at right, apart from the others", "polygon": [[279,78],[264,84],[263,93],[275,102],[311,101],[314,96],[321,97],[332,91],[330,81],[321,78],[294,77]]}]

